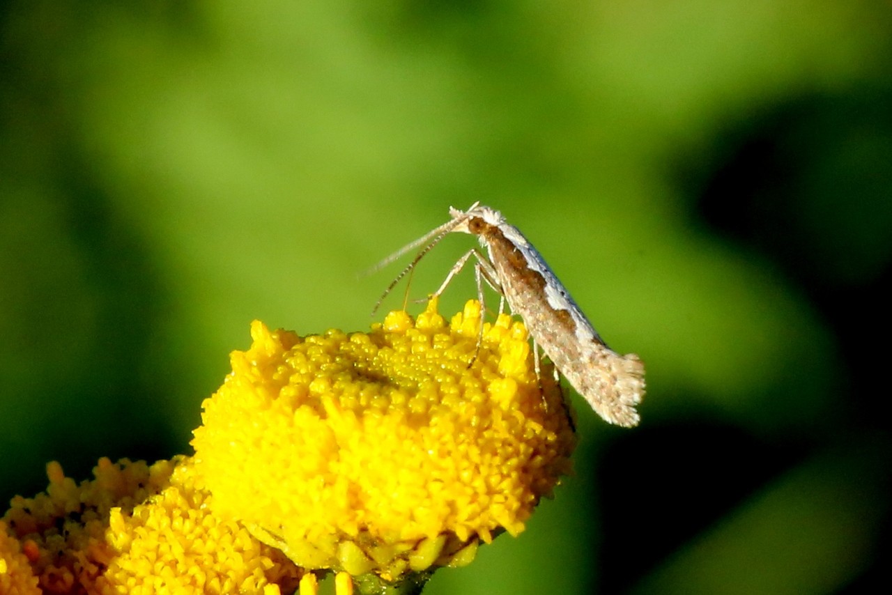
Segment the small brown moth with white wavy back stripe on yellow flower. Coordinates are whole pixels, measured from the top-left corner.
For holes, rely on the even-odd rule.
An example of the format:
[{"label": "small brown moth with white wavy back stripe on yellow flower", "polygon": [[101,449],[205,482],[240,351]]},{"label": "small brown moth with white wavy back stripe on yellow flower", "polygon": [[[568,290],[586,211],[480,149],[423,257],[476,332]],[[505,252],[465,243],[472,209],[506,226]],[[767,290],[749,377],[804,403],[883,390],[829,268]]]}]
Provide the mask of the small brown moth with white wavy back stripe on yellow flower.
[{"label": "small brown moth with white wavy back stripe on yellow flower", "polygon": [[639,415],[635,406],[644,396],[645,385],[644,364],[638,356],[634,353],[620,355],[607,347],[541,254],[519,229],[508,224],[499,211],[475,202],[467,211],[450,207],[450,217],[450,221],[378,263],[376,269],[424,245],[409,266],[393,280],[384,296],[446,234],[462,232],[477,236],[487,255],[476,249],[468,251],[456,262],[434,295],[442,293],[451,278],[473,256],[477,260],[478,293],[483,295],[482,277],[501,293],[511,310],[524,319],[533,342],[541,346],[558,371],[589,401],[600,417],[617,426],[636,426]]}]

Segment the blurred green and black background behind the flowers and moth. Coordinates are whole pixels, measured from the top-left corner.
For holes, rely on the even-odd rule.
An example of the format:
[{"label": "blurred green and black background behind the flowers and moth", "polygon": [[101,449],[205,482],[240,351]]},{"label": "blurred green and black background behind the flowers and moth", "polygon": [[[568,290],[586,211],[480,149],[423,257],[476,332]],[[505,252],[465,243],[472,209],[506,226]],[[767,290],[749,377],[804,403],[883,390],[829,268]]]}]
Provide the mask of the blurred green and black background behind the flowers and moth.
[{"label": "blurred green and black background behind the flowers and moth", "polygon": [[634,430],[574,397],[576,475],[425,592],[889,586],[888,3],[0,15],[3,500],[51,459],[189,451],[253,318],[368,328],[400,267],[358,273],[481,201],[640,353],[648,397]]}]

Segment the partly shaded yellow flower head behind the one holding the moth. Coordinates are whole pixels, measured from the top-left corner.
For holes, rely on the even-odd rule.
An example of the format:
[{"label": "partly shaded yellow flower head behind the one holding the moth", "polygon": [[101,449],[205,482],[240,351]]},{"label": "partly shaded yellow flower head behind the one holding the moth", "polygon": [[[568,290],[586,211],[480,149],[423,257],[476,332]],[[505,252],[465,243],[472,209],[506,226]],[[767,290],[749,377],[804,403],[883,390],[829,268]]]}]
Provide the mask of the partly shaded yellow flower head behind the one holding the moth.
[{"label": "partly shaded yellow flower head behind the one holding the moth", "polygon": [[301,571],[280,552],[211,515],[191,459],[101,459],[95,480],[80,485],[58,463],[47,475],[45,493],[13,499],[4,516],[44,592],[276,595],[297,586]]}]

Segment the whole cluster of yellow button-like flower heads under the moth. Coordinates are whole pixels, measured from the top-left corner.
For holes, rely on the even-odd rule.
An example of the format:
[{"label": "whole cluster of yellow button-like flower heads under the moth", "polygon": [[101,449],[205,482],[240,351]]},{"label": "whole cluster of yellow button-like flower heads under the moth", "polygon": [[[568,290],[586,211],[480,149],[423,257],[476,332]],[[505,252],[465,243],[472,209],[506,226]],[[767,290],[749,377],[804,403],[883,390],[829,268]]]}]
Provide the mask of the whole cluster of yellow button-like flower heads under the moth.
[{"label": "whole cluster of yellow button-like flower heads under the moth", "polygon": [[[253,343],[203,403],[194,457],[102,459],[0,519],[0,593],[317,592],[423,583],[520,533],[570,472],[571,412],[524,326],[429,304],[370,333]],[[372,585],[365,589],[363,585]]]}]

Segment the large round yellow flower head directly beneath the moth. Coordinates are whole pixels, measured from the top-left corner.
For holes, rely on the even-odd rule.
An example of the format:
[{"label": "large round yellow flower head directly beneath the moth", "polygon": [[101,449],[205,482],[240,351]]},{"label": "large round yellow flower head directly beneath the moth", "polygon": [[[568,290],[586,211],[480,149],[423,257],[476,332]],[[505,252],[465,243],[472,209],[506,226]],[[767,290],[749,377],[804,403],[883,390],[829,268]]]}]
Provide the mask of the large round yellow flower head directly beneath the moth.
[{"label": "large round yellow flower head directly beneath the moth", "polygon": [[483,327],[468,302],[413,321],[300,337],[252,324],[253,344],[203,403],[195,470],[212,508],[304,568],[385,581],[474,558],[524,530],[570,470],[568,409],[522,323]]}]

